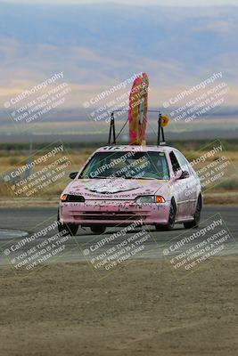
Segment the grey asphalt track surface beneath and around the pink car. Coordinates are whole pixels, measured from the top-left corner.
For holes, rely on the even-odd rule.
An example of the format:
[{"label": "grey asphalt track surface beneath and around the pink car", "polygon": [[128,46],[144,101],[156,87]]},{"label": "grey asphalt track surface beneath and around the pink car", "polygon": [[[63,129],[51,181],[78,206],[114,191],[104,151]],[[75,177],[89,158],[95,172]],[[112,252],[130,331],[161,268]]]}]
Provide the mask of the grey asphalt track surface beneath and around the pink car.
[{"label": "grey asphalt track surface beneath and around the pink car", "polygon": [[[53,244],[53,242],[56,241],[56,239],[52,237],[57,233],[57,229],[54,231],[48,230],[49,226],[55,221],[56,215],[57,209],[55,207],[0,208],[0,247],[2,250],[0,265],[10,263],[12,259],[14,259],[15,263],[22,262],[24,257],[19,256],[24,253],[27,254],[28,257],[32,256],[31,261],[33,263],[33,256],[36,253],[45,249],[46,245]],[[211,224],[214,222],[217,223],[217,226],[213,226],[213,228],[210,229]],[[47,234],[44,232],[45,227]],[[131,244],[133,243],[135,243],[135,254],[133,258],[160,258],[164,255],[168,255],[169,257],[178,255],[183,251],[185,252],[188,248],[194,248],[194,246],[197,246],[199,243],[201,243],[201,247],[199,247],[201,249],[204,247],[204,244],[206,244],[204,239],[208,240],[209,237],[212,238],[214,235],[216,235],[216,239],[213,238],[213,240],[219,239],[220,241],[217,247],[216,245],[213,246],[215,249],[225,243],[225,248],[222,248],[215,255],[234,255],[238,253],[238,245],[234,243],[234,239],[238,240],[238,206],[204,206],[201,216],[201,229],[203,232],[201,231],[202,233],[194,238],[193,233],[197,233],[197,230],[186,231],[183,225],[179,224],[176,225],[174,231],[155,231],[153,227],[150,227],[149,230],[146,228],[144,232],[140,232],[142,229],[139,227],[135,227],[135,229],[130,232],[125,231],[125,228],[108,228],[103,236],[94,235],[88,228],[86,228],[86,230],[79,228],[75,238],[64,240],[63,237],[60,237],[59,239],[61,239],[61,241],[57,238],[59,241],[53,247],[54,252],[51,258],[45,257],[45,255],[49,255],[50,252],[48,254],[45,252],[45,255],[42,252],[41,258],[45,258],[45,262],[47,263],[53,263],[59,260],[70,262],[85,260],[86,257],[98,258],[98,255],[102,254],[107,254],[107,256],[115,253],[119,254],[125,247],[124,244],[132,247]],[[38,231],[41,231],[40,236],[37,236],[37,238],[35,236],[35,239],[30,242],[21,243],[26,236],[32,237]],[[121,233],[121,231],[123,233]],[[221,231],[226,232],[222,233]],[[116,236],[116,232],[119,232],[119,235]],[[228,238],[226,237],[227,233],[229,234]],[[193,236],[193,240],[191,236]],[[226,239],[223,241],[224,237],[226,237]],[[191,240],[188,241],[189,243],[186,241],[184,245],[182,244],[182,246],[177,247],[176,241],[185,238]],[[47,242],[45,242],[45,240],[47,240]],[[127,242],[125,242],[125,240],[127,240]],[[209,241],[209,243],[211,242],[212,240]],[[119,244],[121,244],[121,246],[119,246]],[[140,250],[142,246],[144,246],[144,250]],[[117,250],[115,247],[117,247]],[[127,252],[127,250],[125,251]],[[167,253],[165,251],[167,251]],[[121,256],[122,255],[123,253],[121,252]],[[98,261],[103,260],[101,258]]]}]

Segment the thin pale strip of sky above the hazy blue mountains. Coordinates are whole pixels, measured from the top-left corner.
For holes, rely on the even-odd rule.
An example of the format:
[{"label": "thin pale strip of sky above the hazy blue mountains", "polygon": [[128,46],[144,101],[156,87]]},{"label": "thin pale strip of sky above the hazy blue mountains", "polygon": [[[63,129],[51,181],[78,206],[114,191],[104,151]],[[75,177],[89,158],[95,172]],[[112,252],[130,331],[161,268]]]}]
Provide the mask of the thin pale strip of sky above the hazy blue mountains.
[{"label": "thin pale strip of sky above the hazy blue mountains", "polygon": [[[2,0],[0,0],[2,1]],[[32,0],[4,0],[4,3],[28,3]],[[214,6],[214,5],[238,5],[238,0],[33,0],[36,4],[100,4],[100,3],[118,3],[118,4],[139,4],[139,5],[180,5],[180,6]]]}]

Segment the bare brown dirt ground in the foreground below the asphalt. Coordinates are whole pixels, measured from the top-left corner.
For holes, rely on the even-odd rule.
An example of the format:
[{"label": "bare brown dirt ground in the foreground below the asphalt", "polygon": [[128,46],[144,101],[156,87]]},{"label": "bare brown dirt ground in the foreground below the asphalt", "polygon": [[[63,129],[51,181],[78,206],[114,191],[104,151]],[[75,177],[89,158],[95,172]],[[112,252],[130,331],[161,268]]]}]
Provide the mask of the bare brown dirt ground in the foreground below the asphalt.
[{"label": "bare brown dirt ground in the foreground below the asphalt", "polygon": [[0,269],[0,355],[238,354],[238,260],[185,279],[137,260],[98,280],[86,263]]}]

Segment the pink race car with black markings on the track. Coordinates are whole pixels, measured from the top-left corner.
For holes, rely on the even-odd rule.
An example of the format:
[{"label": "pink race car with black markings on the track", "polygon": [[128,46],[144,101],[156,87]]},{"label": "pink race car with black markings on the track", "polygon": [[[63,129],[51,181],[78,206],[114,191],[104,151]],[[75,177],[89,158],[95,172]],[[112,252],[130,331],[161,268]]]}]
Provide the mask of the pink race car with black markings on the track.
[{"label": "pink race car with black markings on the track", "polygon": [[63,190],[59,230],[103,233],[138,220],[156,230],[197,227],[201,182],[183,154],[168,146],[106,146],[96,150]]}]

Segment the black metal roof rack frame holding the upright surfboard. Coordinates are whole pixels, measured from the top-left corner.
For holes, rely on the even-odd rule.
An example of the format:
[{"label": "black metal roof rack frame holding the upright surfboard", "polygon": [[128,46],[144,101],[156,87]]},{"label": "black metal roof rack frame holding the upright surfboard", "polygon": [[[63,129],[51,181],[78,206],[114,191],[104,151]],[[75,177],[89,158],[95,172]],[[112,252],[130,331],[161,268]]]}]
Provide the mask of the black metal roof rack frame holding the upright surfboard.
[{"label": "black metal roof rack frame holding the upright surfboard", "polygon": [[[129,119],[127,118],[127,121],[120,129],[119,134],[116,135],[115,117],[114,117],[115,112],[127,112],[128,113],[129,110],[118,109],[118,110],[113,110],[111,112],[110,130],[109,130],[109,138],[108,138],[109,146],[111,146],[113,144],[117,144],[117,139],[119,138],[119,134],[121,134],[124,127],[127,125],[127,122],[129,121]],[[147,112],[153,112],[153,113],[158,114],[157,146],[165,145],[166,142],[165,142],[164,128],[162,126],[162,114],[161,114],[160,110],[147,110]]]}]

